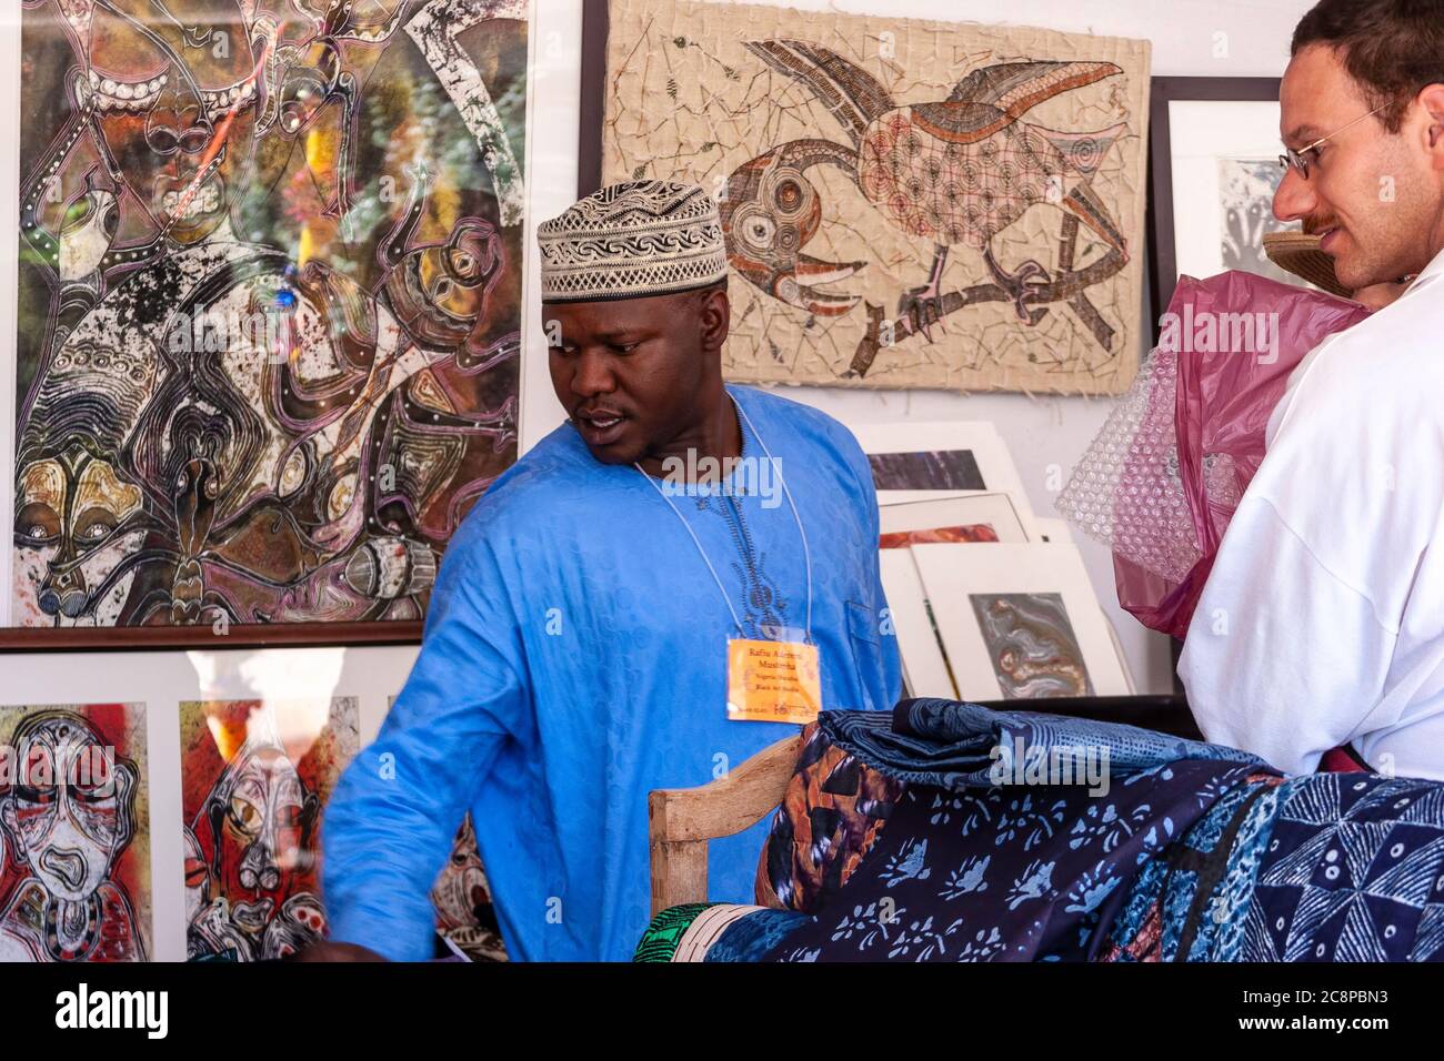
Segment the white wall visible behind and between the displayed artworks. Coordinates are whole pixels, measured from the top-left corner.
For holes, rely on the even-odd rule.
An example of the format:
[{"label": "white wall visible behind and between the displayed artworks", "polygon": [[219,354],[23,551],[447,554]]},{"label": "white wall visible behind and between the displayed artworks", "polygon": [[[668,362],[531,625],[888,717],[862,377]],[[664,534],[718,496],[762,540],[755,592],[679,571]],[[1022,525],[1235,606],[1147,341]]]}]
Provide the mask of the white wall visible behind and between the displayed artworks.
[{"label": "white wall visible behind and between the displayed artworks", "polygon": [[[843,13],[941,17],[936,0],[796,0],[794,7]],[[1310,0],[1012,0],[1006,4],[1017,25],[1050,26],[1071,32],[1144,36],[1154,42],[1155,75],[1274,77],[1285,64],[1292,26]],[[0,14],[0,69],[19,71],[17,12],[6,4]],[[996,0],[952,0],[947,17],[999,22]],[[527,247],[534,245],[537,221],[565,209],[576,191],[576,143],[580,65],[580,0],[534,0],[533,85],[530,95]],[[1225,35],[1220,38],[1219,35]],[[1214,58],[1216,52],[1223,58]],[[3,62],[3,59],[10,59]],[[14,188],[17,105],[6,95],[0,108],[0,186]],[[0,221],[14,232],[17,195],[3,205]],[[536,284],[534,256],[529,264],[527,344],[523,368],[523,446],[531,446],[562,422],[546,374],[540,313],[530,303]],[[9,271],[6,271],[9,270]],[[13,258],[0,263],[0,280],[10,277]],[[12,290],[3,287],[0,290]],[[1145,299],[1147,305],[1147,299]],[[14,341],[14,306],[0,306],[0,364],[3,344]],[[1147,328],[1144,329],[1147,332]],[[13,409],[9,381],[0,381],[3,407]],[[1100,398],[1028,398],[1019,394],[949,394],[937,391],[887,393],[794,388],[790,397],[817,406],[840,419],[874,420],[992,420],[1008,442],[1034,510],[1054,515],[1047,489],[1050,466],[1064,478],[1109,411]],[[9,443],[9,439],[0,443]],[[0,449],[0,458],[3,458]],[[0,499],[9,484],[0,484]],[[9,511],[9,505],[3,511]],[[1112,563],[1092,543],[1080,543],[1095,588],[1112,602]],[[1139,691],[1168,691],[1171,677],[1167,639],[1141,628],[1116,606],[1109,614],[1122,637]],[[180,784],[173,768],[179,758],[176,704],[191,699],[355,696],[361,700],[361,739],[371,739],[386,713],[387,697],[404,683],[416,650],[244,650],[206,652],[55,652],[0,654],[0,704],[82,703],[139,700],[149,704],[149,758],[152,784],[152,878],[156,909],[155,956],[182,959],[185,941],[175,911],[182,904],[182,856],[176,830]],[[458,676],[458,680],[465,680]]]}]

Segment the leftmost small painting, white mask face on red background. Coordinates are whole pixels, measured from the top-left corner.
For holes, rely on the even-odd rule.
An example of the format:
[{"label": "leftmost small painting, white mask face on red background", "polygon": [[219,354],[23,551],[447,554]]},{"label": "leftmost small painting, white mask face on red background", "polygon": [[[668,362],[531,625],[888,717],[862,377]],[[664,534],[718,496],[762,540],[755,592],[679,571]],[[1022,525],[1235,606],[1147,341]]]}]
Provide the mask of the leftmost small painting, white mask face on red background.
[{"label": "leftmost small painting, white mask face on red background", "polygon": [[142,704],[0,707],[0,961],[144,961]]}]

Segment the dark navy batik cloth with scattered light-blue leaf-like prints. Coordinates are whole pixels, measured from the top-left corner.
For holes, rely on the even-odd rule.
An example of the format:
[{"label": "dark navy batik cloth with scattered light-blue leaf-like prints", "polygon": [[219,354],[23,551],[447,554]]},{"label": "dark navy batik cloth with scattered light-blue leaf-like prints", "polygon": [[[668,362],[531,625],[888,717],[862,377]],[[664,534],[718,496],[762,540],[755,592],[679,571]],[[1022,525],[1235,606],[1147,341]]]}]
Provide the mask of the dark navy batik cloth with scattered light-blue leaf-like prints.
[{"label": "dark navy batik cloth with scattered light-blue leaf-like prints", "polygon": [[[1262,767],[1131,726],[947,700],[904,702],[892,719],[827,712],[819,725],[907,788],[777,961],[1092,959],[1135,878]],[[1106,784],[996,781],[999,764],[1014,777],[1008,755],[1054,752],[1106,752]]]}]

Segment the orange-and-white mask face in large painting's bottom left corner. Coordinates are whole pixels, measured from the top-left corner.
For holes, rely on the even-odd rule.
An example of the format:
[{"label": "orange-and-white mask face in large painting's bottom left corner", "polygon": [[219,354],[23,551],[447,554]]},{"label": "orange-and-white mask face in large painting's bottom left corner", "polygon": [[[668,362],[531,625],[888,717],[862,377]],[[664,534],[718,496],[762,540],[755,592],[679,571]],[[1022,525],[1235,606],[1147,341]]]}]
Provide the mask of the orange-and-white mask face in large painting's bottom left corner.
[{"label": "orange-and-white mask face in large painting's bottom left corner", "polygon": [[139,544],[133,540],[139,531],[127,533],[127,524],[140,515],[140,489],[108,460],[71,443],[20,469],[16,510],[22,566],[29,550],[35,550],[29,566],[43,564],[33,590],[39,611],[62,621],[94,615],[117,589],[111,583],[116,569]]}]

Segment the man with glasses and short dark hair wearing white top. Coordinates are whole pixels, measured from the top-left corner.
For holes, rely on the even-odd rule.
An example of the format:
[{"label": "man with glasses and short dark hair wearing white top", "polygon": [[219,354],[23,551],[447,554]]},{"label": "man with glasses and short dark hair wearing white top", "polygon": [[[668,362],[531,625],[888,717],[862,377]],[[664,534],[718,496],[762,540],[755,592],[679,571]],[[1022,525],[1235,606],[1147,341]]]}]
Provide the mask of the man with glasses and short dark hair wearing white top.
[{"label": "man with glasses and short dark hair wearing white top", "polygon": [[1294,371],[1178,673],[1210,741],[1444,780],[1444,3],[1323,0],[1279,89],[1284,221],[1415,276]]}]

